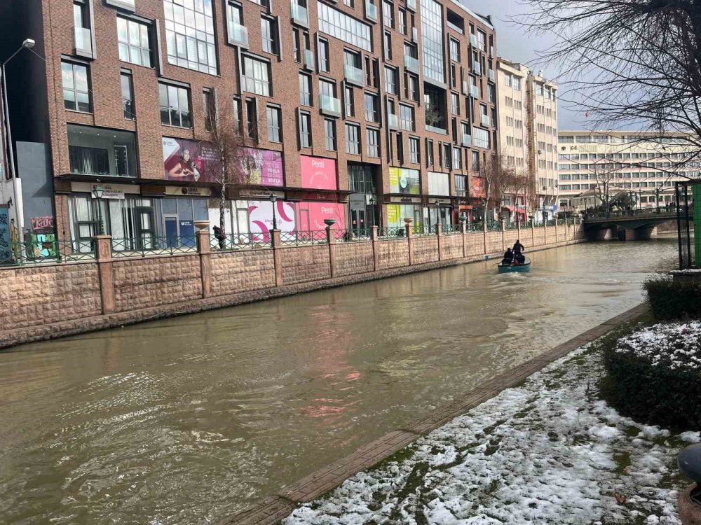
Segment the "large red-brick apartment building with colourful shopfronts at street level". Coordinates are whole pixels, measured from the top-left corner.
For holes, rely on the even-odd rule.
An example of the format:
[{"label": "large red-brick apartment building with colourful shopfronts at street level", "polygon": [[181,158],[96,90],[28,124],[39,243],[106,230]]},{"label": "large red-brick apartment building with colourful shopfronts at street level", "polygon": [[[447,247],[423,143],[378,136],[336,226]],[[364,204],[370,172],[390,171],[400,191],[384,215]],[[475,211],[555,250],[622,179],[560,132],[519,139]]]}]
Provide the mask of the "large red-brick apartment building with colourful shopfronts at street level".
[{"label": "large red-brick apartment building with colourful shopfronts at street level", "polygon": [[489,17],[457,1],[0,10],[5,49],[36,40],[36,54],[8,65],[25,238],[89,239],[101,222],[114,238],[189,237],[193,221],[218,223],[212,118],[236,127],[254,160],[227,195],[228,233],[267,234],[271,195],[283,231],[325,218],[456,223],[481,202],[475,170],[498,149],[496,38]]}]

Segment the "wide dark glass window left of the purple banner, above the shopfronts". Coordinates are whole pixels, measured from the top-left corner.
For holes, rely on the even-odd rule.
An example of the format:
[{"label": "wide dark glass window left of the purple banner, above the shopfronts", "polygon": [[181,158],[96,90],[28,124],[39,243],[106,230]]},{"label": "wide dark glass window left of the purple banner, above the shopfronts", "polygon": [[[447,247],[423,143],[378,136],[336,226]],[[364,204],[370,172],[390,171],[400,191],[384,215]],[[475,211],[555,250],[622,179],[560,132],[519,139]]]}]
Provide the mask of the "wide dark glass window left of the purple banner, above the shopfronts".
[{"label": "wide dark glass window left of the purple banner, above the shopfronts", "polygon": [[134,132],[69,124],[68,155],[74,174],[137,176]]}]

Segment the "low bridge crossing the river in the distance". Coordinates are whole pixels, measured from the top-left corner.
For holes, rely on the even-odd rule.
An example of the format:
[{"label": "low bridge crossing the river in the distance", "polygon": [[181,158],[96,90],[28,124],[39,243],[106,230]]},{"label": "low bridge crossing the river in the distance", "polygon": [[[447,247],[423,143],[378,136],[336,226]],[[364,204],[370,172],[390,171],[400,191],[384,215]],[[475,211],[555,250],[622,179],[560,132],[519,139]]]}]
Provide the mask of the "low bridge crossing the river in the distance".
[{"label": "low bridge crossing the river in the distance", "polygon": [[595,214],[585,217],[584,230],[587,239],[592,241],[611,238],[638,241],[650,239],[656,233],[658,225],[669,221],[676,221],[676,209],[660,209],[659,212],[656,209],[612,212],[608,216]]}]

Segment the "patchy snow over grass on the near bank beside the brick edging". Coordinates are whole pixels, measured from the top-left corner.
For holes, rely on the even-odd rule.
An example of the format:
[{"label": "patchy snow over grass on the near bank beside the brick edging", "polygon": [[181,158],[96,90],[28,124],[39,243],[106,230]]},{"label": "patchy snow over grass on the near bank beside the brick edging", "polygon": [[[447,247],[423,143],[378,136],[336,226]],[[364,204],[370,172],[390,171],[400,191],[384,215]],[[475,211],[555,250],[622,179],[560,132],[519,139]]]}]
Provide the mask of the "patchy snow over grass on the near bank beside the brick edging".
[{"label": "patchy snow over grass on the near bank beside the brick edging", "polygon": [[620,416],[601,374],[598,353],[571,353],[283,523],[679,524],[676,454],[699,433]]}]

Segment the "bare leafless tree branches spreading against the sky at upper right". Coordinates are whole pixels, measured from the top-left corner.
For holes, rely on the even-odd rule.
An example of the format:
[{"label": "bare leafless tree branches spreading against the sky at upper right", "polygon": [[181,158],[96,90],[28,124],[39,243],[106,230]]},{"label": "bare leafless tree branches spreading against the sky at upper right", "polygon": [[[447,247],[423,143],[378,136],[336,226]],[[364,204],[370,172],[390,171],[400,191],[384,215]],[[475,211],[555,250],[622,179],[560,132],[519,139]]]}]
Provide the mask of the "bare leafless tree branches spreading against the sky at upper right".
[{"label": "bare leafless tree branches spreading against the sky at upper right", "polygon": [[[557,42],[540,54],[592,127],[684,132],[701,153],[701,3],[524,0],[522,24]],[[525,20],[525,21],[524,21]]]}]

